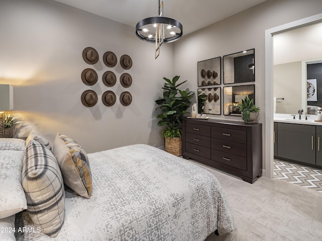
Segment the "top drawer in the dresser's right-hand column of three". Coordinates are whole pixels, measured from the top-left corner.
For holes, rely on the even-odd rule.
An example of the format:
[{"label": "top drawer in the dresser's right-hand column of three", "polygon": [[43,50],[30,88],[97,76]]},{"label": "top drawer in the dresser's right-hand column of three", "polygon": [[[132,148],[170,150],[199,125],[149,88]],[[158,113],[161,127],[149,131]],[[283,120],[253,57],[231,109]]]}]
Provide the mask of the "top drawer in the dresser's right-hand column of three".
[{"label": "top drawer in the dresser's right-hand column of three", "polygon": [[231,142],[247,143],[247,132],[241,130],[211,127],[211,137]]}]

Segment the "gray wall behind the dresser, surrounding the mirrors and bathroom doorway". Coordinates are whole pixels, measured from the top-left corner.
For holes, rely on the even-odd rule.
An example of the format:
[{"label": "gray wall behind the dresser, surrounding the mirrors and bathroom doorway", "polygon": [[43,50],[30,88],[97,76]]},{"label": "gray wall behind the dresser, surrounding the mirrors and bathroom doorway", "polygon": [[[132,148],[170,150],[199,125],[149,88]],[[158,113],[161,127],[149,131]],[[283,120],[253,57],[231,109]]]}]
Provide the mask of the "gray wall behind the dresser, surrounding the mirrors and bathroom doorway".
[{"label": "gray wall behind the dresser, surrounding the mirrors and bathroom doorway", "polygon": [[[256,105],[261,108],[263,123],[263,169],[265,168],[265,30],[319,14],[319,0],[269,0],[209,27],[190,34],[175,43],[176,72],[193,78],[189,88],[197,89],[197,62],[255,48]],[[223,81],[221,81],[223,82]],[[253,82],[254,83],[254,82]],[[250,82],[252,84],[252,82]],[[221,87],[224,85],[221,84]],[[272,100],[273,101],[273,100]],[[240,120],[240,117],[218,116]],[[268,160],[269,161],[269,160]]]}]

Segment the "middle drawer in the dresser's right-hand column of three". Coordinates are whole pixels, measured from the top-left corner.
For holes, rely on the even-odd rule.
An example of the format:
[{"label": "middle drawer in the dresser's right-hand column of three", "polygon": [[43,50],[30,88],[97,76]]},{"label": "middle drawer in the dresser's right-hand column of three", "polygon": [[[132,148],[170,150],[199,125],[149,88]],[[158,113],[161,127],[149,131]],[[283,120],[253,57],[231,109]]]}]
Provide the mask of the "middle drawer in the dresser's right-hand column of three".
[{"label": "middle drawer in the dresser's right-hand column of three", "polygon": [[211,149],[247,157],[247,145],[243,143],[211,138]]}]

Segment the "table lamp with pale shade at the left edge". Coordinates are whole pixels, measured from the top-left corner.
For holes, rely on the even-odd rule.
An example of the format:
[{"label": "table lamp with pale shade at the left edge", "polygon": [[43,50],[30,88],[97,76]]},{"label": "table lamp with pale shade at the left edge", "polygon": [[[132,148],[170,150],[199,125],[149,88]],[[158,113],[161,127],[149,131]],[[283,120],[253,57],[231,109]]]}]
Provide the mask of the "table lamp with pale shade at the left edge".
[{"label": "table lamp with pale shade at the left edge", "polygon": [[0,84],[0,138],[4,138],[5,111],[14,108],[14,89],[9,84]]}]

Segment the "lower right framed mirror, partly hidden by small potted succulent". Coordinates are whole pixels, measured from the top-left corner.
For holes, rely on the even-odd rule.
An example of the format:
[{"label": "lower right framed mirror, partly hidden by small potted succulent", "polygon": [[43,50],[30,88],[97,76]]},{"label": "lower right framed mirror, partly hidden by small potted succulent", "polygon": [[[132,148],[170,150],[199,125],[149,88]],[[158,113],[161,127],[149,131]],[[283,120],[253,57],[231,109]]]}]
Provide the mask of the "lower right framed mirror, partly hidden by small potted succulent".
[{"label": "lower right framed mirror, partly hidden by small potted succulent", "polygon": [[255,84],[224,86],[223,87],[223,114],[224,115],[241,115],[237,105],[245,97],[254,99],[255,104]]}]

